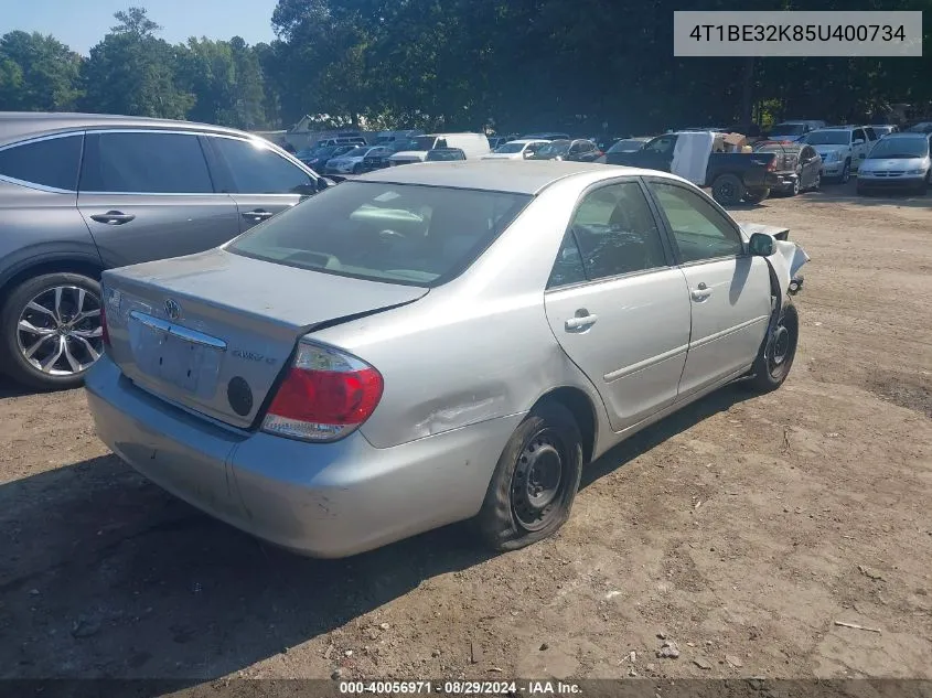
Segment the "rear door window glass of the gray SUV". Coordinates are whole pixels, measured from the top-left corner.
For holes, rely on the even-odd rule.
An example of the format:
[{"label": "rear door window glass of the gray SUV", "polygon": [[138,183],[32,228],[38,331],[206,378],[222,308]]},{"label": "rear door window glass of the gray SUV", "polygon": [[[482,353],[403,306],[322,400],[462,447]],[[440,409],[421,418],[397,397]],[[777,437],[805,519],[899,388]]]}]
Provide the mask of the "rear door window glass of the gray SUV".
[{"label": "rear door window glass of the gray SUV", "polygon": [[83,192],[211,194],[207,162],[196,136],[159,132],[88,133]]}]

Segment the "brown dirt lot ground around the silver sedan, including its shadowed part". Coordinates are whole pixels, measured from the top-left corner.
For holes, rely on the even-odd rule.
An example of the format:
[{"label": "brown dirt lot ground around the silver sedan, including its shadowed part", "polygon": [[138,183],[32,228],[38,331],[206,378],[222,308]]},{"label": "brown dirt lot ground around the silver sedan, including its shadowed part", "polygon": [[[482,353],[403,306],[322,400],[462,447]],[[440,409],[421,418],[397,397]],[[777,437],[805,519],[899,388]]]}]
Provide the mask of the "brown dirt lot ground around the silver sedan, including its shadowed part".
[{"label": "brown dirt lot ground around the silver sedan, including its shadowed part", "polygon": [[0,678],[932,677],[932,196],[853,185],[737,212],[812,257],[785,386],[617,448],[518,552],[293,557],[1,384]]}]

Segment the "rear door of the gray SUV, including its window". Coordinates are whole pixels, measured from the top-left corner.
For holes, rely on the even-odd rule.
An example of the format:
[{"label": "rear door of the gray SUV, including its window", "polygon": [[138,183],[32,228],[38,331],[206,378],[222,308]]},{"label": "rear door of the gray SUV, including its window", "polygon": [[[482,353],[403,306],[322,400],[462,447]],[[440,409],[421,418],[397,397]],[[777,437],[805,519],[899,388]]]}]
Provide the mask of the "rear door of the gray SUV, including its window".
[{"label": "rear door of the gray SUV, including its window", "polygon": [[179,257],[239,234],[197,133],[88,131],[77,205],[108,267]]}]

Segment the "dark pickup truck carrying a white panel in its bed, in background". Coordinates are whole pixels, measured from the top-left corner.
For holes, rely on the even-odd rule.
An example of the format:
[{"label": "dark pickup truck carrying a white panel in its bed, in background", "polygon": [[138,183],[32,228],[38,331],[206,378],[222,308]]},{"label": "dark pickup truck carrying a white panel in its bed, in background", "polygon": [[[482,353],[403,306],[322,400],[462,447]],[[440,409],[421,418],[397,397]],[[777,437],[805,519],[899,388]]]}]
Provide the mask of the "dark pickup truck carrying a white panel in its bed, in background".
[{"label": "dark pickup truck carrying a white panel in its bed, in background", "polygon": [[714,152],[720,133],[678,131],[649,140],[634,152],[620,153],[618,164],[672,172],[699,186],[711,187],[724,206],[758,203],[778,185],[776,153]]}]

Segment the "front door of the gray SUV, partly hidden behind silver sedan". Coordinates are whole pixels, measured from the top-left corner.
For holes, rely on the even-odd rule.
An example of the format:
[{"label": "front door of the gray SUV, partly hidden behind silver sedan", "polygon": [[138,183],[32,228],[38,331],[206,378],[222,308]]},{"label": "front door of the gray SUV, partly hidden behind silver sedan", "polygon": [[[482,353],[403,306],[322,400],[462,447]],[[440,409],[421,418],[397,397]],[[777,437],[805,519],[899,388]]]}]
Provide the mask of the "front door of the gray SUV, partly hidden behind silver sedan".
[{"label": "front door of the gray SUV, partly hidden behind silver sedan", "polygon": [[[317,192],[317,179],[260,139],[208,136],[212,171],[239,214],[239,232],[268,221]],[[352,146],[345,146],[351,150]],[[338,148],[338,152],[340,149]]]}]

